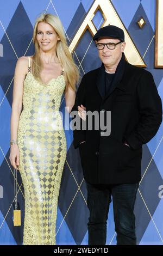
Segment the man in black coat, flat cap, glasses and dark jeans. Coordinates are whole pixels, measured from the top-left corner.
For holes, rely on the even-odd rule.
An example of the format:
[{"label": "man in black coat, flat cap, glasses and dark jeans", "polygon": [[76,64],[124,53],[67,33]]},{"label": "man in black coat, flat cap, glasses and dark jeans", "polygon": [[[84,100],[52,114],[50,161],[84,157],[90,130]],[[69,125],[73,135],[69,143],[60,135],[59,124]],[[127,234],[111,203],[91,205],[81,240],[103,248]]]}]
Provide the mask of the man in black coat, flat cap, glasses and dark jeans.
[{"label": "man in black coat, flat cap, glasses and dark jeans", "polygon": [[[159,129],[161,99],[151,73],[126,61],[121,28],[103,27],[93,40],[102,66],[83,76],[72,113],[79,111],[80,121],[89,123],[87,113],[96,111],[108,127],[110,112],[111,132],[101,129],[101,124],[96,129],[95,123],[85,130],[73,126],[73,144],[79,147],[87,185],[89,245],[105,245],[111,196],[117,245],[136,245],[134,204],[141,180],[142,145]],[[86,120],[82,120],[82,105]]]}]

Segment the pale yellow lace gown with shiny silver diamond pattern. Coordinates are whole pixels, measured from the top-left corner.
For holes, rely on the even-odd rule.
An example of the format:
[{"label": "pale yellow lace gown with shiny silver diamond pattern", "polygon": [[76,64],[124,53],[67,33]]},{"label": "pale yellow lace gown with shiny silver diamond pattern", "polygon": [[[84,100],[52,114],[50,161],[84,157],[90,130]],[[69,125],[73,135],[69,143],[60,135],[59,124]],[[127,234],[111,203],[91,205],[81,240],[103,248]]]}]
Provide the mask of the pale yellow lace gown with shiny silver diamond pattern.
[{"label": "pale yellow lace gown with shiny silver diamond pattern", "polygon": [[23,111],[18,123],[20,174],[24,186],[23,245],[55,245],[55,225],[66,138],[59,114],[64,75],[47,85],[30,72],[24,80]]}]

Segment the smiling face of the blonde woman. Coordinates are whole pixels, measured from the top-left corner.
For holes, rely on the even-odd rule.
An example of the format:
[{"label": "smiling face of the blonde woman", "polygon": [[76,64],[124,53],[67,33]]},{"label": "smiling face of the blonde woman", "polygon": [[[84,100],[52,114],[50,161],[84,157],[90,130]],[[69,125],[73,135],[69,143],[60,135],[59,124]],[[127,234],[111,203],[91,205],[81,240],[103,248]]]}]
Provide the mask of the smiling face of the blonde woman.
[{"label": "smiling face of the blonde woman", "polygon": [[57,41],[60,40],[54,28],[45,22],[40,22],[37,26],[37,42],[42,51],[48,52],[56,48]]}]

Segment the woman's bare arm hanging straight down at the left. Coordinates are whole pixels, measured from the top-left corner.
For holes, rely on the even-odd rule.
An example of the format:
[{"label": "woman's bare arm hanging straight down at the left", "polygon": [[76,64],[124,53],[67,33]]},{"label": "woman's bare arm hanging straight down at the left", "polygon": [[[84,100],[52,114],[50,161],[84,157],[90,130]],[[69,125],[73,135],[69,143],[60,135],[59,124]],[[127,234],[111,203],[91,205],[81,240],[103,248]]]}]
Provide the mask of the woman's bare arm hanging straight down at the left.
[{"label": "woman's bare arm hanging straight down at the left", "polygon": [[[25,56],[18,58],[14,74],[14,88],[12,94],[12,112],[11,112],[11,141],[17,141],[18,121],[22,111],[23,84],[28,70],[28,59]],[[19,149],[17,144],[10,145],[10,162],[18,170]]]}]

